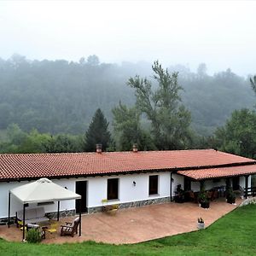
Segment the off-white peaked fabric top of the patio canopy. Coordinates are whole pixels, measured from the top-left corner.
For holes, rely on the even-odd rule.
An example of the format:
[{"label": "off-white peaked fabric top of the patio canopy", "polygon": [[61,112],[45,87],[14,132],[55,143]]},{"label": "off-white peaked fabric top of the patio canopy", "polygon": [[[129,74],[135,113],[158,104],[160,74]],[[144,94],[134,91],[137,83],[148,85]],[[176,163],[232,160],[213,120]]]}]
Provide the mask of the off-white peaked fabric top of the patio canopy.
[{"label": "off-white peaked fabric top of the patio canopy", "polygon": [[33,183],[22,185],[11,189],[10,193],[15,195],[23,204],[43,201],[64,201],[80,199],[81,195],[60,185],[53,183],[48,178],[43,177]]}]

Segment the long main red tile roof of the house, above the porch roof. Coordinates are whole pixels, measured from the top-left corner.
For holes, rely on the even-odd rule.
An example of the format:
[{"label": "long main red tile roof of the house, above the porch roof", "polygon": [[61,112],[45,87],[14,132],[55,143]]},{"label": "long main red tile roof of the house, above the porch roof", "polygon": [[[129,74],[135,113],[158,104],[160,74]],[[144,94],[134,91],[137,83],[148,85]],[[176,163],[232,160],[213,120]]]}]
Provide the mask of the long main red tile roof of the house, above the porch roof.
[{"label": "long main red tile roof of the house, above the porch roof", "polygon": [[0,181],[242,165],[255,160],[213,149],[67,154],[0,154]]}]

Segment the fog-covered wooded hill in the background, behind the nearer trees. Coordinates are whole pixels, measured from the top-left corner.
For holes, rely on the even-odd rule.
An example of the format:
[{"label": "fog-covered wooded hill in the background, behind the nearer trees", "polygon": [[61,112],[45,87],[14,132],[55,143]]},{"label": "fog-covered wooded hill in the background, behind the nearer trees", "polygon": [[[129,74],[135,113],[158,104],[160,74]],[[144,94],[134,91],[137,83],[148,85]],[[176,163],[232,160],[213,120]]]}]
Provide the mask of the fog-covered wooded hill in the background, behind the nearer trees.
[{"label": "fog-covered wooded hill in the background, behind the nearer trees", "polygon": [[[200,134],[223,125],[234,109],[253,108],[247,79],[230,70],[213,76],[204,66],[197,73],[183,66],[170,70],[180,72],[183,102]],[[16,123],[24,131],[84,133],[96,108],[102,108],[111,124],[111,109],[119,101],[134,103],[126,82],[136,74],[152,74],[150,64],[100,63],[96,55],[79,62],[29,61],[20,55],[0,59],[0,129]]]}]

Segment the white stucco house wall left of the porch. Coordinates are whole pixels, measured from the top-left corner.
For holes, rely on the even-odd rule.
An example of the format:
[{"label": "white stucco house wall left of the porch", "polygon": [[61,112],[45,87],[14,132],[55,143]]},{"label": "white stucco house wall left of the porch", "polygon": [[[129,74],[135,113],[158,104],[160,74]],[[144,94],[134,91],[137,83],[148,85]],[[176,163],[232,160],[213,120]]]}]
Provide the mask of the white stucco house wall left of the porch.
[{"label": "white stucco house wall left of the porch", "polygon": [[[159,175],[159,193],[158,195],[148,195],[148,179],[150,175]],[[170,196],[170,172],[152,172],[131,175],[105,176],[105,177],[87,177],[87,178],[65,178],[53,179],[54,183],[63,188],[75,192],[75,183],[78,181],[87,181],[87,207],[101,207],[102,199],[107,198],[108,178],[119,178],[119,200],[110,201],[108,204],[125,203],[131,201],[143,201],[155,198]],[[133,185],[136,182],[136,186]],[[0,183],[0,218],[8,216],[8,197],[9,190],[24,185],[28,182]],[[29,204],[29,207],[37,207],[37,204]],[[60,210],[69,210],[75,208],[75,201],[61,201]],[[15,216],[16,211],[23,209],[22,203],[11,196],[11,216]],[[44,205],[45,212],[56,212],[57,202],[51,205]]]}]

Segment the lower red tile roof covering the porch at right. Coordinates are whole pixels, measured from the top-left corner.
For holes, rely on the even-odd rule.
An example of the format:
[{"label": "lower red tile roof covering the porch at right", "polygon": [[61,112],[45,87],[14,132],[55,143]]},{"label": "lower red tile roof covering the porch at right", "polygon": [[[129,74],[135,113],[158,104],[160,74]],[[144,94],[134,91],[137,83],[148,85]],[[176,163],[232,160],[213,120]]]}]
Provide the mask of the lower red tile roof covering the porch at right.
[{"label": "lower red tile roof covering the porch at right", "polygon": [[207,168],[200,170],[178,171],[177,173],[200,181],[218,177],[235,177],[256,174],[256,165]]}]

